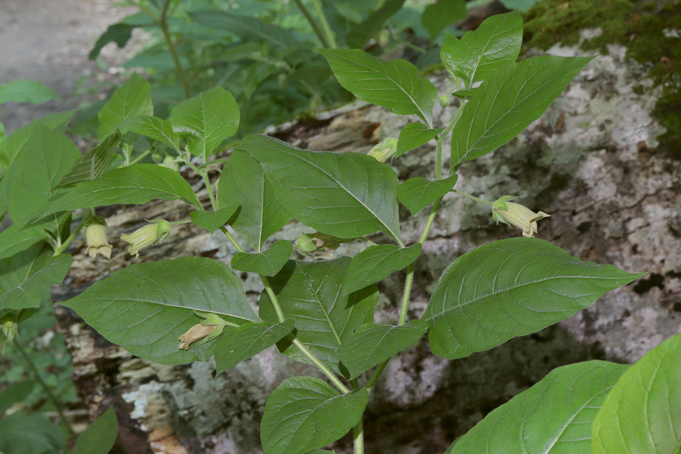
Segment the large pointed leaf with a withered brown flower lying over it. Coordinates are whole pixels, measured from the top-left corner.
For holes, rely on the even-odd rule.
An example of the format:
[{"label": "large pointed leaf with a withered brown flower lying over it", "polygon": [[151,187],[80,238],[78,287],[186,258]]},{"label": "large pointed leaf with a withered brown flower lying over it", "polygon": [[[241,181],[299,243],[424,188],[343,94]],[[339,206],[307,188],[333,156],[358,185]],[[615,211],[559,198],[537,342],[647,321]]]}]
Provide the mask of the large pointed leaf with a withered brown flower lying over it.
[{"label": "large pointed leaf with a withered brown flower lying over it", "polygon": [[211,312],[232,323],[260,321],[239,278],[224,263],[180,257],[129,265],[63,306],[133,355],[161,364],[204,361],[215,342],[178,350],[178,336]]}]

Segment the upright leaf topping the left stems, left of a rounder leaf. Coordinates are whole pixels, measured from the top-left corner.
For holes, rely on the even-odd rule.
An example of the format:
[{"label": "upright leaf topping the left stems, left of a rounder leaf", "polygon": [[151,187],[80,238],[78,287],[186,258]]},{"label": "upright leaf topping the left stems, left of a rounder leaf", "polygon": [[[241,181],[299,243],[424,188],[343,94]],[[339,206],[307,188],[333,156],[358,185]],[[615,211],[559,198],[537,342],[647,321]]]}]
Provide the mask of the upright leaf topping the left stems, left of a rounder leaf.
[{"label": "upright leaf topping the left stems, left of a rounder leaf", "polygon": [[99,139],[116,132],[118,125],[136,115],[153,115],[151,86],[139,74],[133,74],[114,91],[104,107],[99,111]]}]

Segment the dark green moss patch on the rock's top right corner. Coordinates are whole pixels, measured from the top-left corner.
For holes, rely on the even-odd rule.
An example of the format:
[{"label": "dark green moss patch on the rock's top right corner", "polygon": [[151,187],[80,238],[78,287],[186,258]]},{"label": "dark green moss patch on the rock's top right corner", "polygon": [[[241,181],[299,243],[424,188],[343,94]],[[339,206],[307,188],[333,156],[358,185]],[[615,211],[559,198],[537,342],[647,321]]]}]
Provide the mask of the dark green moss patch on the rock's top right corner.
[{"label": "dark green moss patch on the rock's top right corner", "polygon": [[[602,33],[580,43],[583,29]],[[654,116],[667,132],[663,151],[681,157],[681,0],[544,0],[525,14],[525,42],[548,49],[556,43],[580,44],[584,50],[607,54],[607,44],[622,44],[627,57],[648,71],[661,86]],[[641,94],[642,86],[634,88]]]}]

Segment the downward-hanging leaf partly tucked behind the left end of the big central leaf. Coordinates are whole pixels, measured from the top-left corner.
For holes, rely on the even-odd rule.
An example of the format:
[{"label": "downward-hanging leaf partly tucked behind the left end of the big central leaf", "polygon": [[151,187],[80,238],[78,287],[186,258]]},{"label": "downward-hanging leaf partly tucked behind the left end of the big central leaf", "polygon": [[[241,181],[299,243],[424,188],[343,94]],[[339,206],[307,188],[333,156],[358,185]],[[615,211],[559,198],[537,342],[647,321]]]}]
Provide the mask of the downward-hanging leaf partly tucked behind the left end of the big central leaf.
[{"label": "downward-hanging leaf partly tucked behind the left end of the big central leaf", "polygon": [[272,233],[281,229],[291,215],[274,197],[272,184],[259,163],[247,153],[234,150],[222,169],[217,199],[220,206],[240,204],[229,219],[236,232],[257,252]]}]

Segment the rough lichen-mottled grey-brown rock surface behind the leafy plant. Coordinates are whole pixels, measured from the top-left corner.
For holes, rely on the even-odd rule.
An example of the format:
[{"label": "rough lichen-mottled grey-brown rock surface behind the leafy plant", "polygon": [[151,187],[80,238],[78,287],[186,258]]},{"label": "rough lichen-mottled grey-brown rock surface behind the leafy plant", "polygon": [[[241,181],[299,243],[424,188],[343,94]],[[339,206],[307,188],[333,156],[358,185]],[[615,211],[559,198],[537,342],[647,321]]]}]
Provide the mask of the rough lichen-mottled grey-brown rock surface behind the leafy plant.
[{"label": "rough lichen-mottled grey-brown rock surface behind the leafy plant", "polygon": [[[559,47],[550,53],[581,54]],[[558,325],[465,359],[434,357],[424,338],[392,360],[375,388],[365,417],[367,453],[441,453],[490,410],[552,368],[587,359],[633,362],[680,331],[681,163],[656,153],[655,137],[663,132],[650,116],[656,93],[633,91],[633,86],[645,83],[642,74],[640,67],[624,61],[623,49],[613,46],[609,56],[592,61],[524,133],[490,155],[465,163],[457,189],[488,200],[520,195],[522,204],[552,215],[539,223],[539,238],[584,260],[650,274],[607,293]],[[449,83],[441,75],[432,80],[442,89]],[[437,122],[446,124],[456,103],[444,112],[436,109]],[[272,133],[312,150],[366,151],[384,137],[397,137],[411,121],[417,118],[366,106]],[[433,165],[432,144],[394,162],[400,180],[432,178]],[[197,179],[187,176],[200,188]],[[206,202],[205,189],[202,194]],[[98,214],[118,236],[139,227],[144,218],[176,221],[187,218],[189,210],[157,201],[109,207]],[[403,214],[406,217],[406,210]],[[407,244],[417,240],[426,216],[422,212],[402,223]],[[270,241],[293,240],[302,231],[310,230],[292,222]],[[422,314],[439,275],[456,257],[519,233],[494,225],[486,206],[452,193],[445,196],[416,263],[409,317]],[[121,240],[111,242],[114,255],[109,262],[76,256],[65,285],[54,293],[57,301],[134,261]],[[73,246],[78,249],[84,242]],[[360,248],[344,245],[337,254],[351,255]],[[234,252],[219,233],[210,236],[182,225],[160,246],[144,250],[138,261],[203,255],[229,263]],[[242,277],[255,304],[261,290],[257,279]],[[397,273],[381,282],[377,321],[396,321],[403,278]],[[120,452],[260,453],[259,420],[270,391],[288,376],[318,375],[274,349],[217,378],[210,362],[158,366],[109,344],[69,310],[61,308],[59,314],[74,357],[74,378],[91,412],[116,407],[123,424]],[[351,452],[351,440],[341,440],[334,449]]]}]

